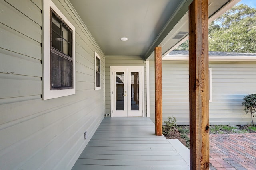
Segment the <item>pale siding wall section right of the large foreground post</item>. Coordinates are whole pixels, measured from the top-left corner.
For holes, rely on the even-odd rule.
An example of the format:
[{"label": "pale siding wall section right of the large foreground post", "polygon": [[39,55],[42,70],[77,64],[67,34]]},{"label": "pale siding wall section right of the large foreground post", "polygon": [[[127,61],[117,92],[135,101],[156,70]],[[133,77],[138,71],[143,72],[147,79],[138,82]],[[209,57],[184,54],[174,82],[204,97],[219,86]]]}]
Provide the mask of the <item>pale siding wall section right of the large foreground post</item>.
[{"label": "pale siding wall section right of the large foreground post", "polygon": [[[256,93],[256,62],[212,62],[212,124],[247,124],[243,111],[245,95]],[[218,120],[219,118],[219,120]]]}]

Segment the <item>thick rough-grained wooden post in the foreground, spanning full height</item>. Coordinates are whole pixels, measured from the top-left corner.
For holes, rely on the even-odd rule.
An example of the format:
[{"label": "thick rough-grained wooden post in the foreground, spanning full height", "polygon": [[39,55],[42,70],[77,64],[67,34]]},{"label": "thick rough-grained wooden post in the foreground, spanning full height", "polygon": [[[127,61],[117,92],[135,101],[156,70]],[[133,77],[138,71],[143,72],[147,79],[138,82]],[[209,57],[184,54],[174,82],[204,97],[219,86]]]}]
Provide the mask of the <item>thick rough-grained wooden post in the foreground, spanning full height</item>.
[{"label": "thick rough-grained wooden post in the foreground, spanning full height", "polygon": [[209,169],[208,0],[189,6],[190,170]]}]

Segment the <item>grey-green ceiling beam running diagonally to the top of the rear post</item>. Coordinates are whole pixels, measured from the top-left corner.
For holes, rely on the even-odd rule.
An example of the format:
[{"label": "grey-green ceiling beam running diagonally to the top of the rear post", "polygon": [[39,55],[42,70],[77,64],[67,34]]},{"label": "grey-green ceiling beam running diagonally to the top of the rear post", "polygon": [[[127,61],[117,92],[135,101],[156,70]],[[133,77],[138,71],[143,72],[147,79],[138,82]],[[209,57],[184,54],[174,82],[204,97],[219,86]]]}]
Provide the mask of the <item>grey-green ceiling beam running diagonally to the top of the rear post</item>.
[{"label": "grey-green ceiling beam running diagonally to the top of the rear post", "polygon": [[154,48],[158,47],[162,43],[162,41],[164,40],[164,38],[166,38],[168,33],[170,33],[170,31],[175,27],[175,25],[180,21],[180,19],[186,14],[186,12],[188,12],[188,6],[191,4],[192,1],[193,0],[186,0],[184,4],[181,5],[180,9],[177,9],[175,14],[170,17],[165,27],[158,34],[158,37],[156,37],[155,41],[152,43],[152,45],[146,52],[144,57],[145,61],[154,52]]}]

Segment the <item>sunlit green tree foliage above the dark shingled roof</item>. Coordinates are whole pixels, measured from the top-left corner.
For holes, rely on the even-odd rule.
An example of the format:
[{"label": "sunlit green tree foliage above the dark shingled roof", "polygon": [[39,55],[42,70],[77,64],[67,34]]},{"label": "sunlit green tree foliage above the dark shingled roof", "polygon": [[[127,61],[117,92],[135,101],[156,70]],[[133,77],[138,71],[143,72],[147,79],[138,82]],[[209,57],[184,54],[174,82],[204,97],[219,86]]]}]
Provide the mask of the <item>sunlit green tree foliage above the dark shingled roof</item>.
[{"label": "sunlit green tree foliage above the dark shingled roof", "polygon": [[[188,50],[188,41],[180,46]],[[256,53],[256,8],[240,4],[210,23],[209,51]]]}]

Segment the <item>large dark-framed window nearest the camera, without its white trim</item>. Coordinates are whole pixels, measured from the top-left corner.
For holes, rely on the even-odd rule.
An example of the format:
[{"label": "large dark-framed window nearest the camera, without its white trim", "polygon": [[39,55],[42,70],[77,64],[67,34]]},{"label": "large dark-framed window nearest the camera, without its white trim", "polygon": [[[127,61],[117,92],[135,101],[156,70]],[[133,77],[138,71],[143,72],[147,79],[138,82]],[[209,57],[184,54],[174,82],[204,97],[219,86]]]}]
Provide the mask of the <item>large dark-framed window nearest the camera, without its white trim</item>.
[{"label": "large dark-framed window nearest the camera, without its white trim", "polygon": [[50,90],[73,84],[72,29],[50,8]]}]

